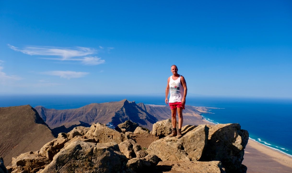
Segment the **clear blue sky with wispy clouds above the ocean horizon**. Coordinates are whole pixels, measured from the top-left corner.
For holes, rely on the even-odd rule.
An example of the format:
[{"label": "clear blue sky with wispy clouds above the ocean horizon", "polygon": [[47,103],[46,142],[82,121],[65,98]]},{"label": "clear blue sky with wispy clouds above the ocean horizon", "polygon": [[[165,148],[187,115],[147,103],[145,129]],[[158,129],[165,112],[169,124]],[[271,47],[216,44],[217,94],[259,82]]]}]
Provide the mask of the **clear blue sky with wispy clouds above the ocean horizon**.
[{"label": "clear blue sky with wispy clouds above the ocean horizon", "polygon": [[0,1],[0,94],[292,98],[292,1]]}]

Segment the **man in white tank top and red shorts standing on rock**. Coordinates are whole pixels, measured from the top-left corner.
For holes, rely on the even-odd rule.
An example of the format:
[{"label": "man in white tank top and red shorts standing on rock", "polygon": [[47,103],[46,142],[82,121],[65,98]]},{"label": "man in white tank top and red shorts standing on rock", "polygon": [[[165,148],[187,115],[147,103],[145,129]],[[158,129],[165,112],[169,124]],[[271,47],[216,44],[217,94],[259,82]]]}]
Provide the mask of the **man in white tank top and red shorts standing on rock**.
[{"label": "man in white tank top and red shorts standing on rock", "polygon": [[[183,109],[185,109],[185,97],[187,96],[187,83],[185,78],[178,74],[178,67],[176,65],[171,66],[172,76],[167,80],[167,86],[165,90],[165,103],[169,102],[171,109],[171,123],[172,133],[169,137],[177,136],[182,137],[181,128],[183,126]],[[167,99],[170,90],[169,101]],[[176,112],[178,112],[178,131],[176,130]]]}]

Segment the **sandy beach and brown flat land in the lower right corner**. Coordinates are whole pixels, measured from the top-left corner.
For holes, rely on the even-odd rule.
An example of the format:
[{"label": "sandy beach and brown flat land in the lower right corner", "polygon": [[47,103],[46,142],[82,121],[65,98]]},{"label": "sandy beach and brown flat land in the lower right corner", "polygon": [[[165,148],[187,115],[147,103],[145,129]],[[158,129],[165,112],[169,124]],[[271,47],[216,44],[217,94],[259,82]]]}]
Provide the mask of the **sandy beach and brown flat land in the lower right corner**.
[{"label": "sandy beach and brown flat land in the lower right corner", "polygon": [[242,164],[247,173],[291,173],[292,157],[248,140]]}]

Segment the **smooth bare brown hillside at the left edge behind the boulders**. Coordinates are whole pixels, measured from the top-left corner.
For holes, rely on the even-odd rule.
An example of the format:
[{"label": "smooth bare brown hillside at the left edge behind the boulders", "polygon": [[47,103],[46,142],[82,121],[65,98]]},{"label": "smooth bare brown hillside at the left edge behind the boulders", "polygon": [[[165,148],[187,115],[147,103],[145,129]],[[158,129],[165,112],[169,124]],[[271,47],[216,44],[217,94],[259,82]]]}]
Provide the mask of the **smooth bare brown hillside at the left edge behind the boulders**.
[{"label": "smooth bare brown hillside at the left edge behind the boulders", "polygon": [[38,112],[29,105],[0,107],[0,156],[4,164],[28,151],[39,150],[54,139]]}]

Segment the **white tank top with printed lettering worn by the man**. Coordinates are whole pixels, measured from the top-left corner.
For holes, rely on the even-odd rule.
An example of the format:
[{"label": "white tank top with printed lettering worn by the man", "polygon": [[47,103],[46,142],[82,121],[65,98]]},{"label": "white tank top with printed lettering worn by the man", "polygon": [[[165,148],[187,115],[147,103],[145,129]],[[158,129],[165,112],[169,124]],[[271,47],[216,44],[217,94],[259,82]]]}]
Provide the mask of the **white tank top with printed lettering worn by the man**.
[{"label": "white tank top with printed lettering worn by the man", "polygon": [[181,102],[183,100],[184,88],[183,88],[183,85],[180,84],[180,76],[176,80],[173,80],[172,76],[170,76],[170,80],[169,80],[169,90],[170,90],[169,103]]}]

